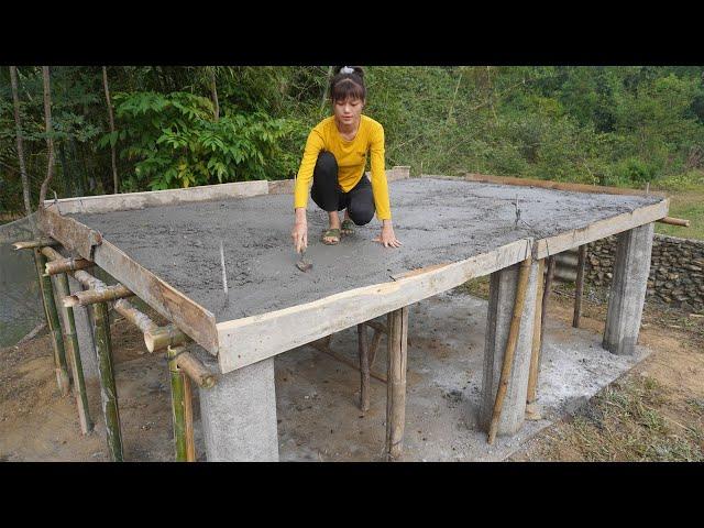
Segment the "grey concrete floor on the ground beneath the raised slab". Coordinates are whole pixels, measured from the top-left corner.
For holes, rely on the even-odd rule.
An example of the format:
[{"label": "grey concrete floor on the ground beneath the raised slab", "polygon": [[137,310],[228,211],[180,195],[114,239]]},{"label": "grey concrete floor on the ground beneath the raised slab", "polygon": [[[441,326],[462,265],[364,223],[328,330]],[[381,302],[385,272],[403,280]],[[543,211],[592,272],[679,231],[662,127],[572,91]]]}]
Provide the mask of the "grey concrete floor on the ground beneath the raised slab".
[{"label": "grey concrete floor on the ground beneath the raised slab", "polygon": [[[553,420],[574,413],[647,355],[615,355],[602,337],[558,323],[548,312],[537,405],[543,419],[486,443],[480,427],[487,302],[449,292],[410,307],[405,461],[498,461]],[[370,333],[371,336],[371,333]],[[356,329],[332,348],[356,354]],[[382,461],[386,386],[372,378],[371,407],[360,411],[360,376],[327,354],[301,346],[275,358],[282,461]],[[374,370],[385,372],[386,338]]]}]

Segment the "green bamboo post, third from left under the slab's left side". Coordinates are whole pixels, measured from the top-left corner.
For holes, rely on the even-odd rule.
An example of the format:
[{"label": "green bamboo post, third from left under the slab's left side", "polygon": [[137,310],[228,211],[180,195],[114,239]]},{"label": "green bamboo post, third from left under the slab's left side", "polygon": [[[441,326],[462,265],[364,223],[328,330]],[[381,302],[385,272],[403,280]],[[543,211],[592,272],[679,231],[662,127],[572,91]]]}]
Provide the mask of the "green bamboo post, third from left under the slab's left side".
[{"label": "green bamboo post, third from left under the slab's left side", "polygon": [[98,355],[98,370],[100,371],[100,400],[106,420],[108,452],[112,462],[122,462],[122,431],[120,430],[118,389],[112,369],[108,305],[106,302],[97,302],[90,305],[90,309],[92,312],[96,354]]}]

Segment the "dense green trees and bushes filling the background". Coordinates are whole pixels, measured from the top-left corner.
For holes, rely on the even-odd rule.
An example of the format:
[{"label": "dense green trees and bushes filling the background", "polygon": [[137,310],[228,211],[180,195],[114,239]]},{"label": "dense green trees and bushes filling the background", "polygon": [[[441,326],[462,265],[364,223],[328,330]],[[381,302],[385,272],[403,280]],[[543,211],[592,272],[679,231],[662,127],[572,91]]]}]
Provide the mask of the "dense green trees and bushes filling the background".
[{"label": "dense green trees and bushes filling the background", "polygon": [[[329,114],[329,67],[52,67],[56,179],[50,196],[296,174]],[[388,165],[605,185],[704,169],[704,67],[369,67],[365,113]],[[32,197],[46,174],[40,67],[20,67]],[[213,85],[215,82],[215,85]],[[215,88],[215,90],[213,90]],[[217,94],[217,98],[216,98]],[[218,110],[216,111],[216,100]],[[8,68],[0,70],[0,211],[22,211]]]}]

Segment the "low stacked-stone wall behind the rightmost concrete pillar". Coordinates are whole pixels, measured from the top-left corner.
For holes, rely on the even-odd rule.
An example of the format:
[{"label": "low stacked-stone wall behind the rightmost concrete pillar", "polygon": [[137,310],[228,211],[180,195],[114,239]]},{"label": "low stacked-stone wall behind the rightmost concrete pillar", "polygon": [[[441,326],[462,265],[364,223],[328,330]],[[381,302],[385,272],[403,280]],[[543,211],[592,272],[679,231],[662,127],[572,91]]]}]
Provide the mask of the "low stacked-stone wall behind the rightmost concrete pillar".
[{"label": "low stacked-stone wall behind the rightmost concrete pillar", "polygon": [[[608,286],[615,254],[616,237],[588,244],[586,280]],[[704,312],[704,241],[656,234],[647,295],[685,311]]]}]

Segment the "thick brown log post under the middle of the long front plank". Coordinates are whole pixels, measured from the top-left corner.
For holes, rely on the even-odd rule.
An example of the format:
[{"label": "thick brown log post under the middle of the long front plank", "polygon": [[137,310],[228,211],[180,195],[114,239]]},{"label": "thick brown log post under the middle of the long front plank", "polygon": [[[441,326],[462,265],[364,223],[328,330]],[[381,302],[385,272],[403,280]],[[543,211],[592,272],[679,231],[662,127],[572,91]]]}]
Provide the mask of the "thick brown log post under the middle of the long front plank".
[{"label": "thick brown log post under the middle of the long front plank", "polygon": [[406,425],[406,364],[408,339],[408,307],[387,315],[388,361],[386,378],[386,458],[402,455]]}]

